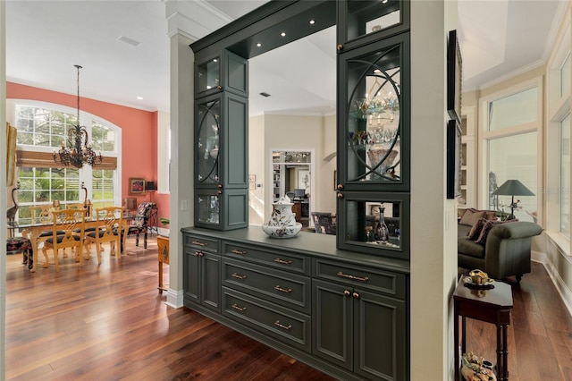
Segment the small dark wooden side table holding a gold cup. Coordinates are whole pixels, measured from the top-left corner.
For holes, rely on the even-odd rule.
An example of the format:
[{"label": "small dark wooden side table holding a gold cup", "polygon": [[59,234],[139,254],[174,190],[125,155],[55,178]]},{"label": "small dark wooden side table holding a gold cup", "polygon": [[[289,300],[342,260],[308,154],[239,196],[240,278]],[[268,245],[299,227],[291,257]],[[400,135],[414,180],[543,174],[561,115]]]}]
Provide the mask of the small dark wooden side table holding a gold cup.
[{"label": "small dark wooden side table holding a gold cup", "polygon": [[[464,278],[464,276],[463,276]],[[460,364],[458,345],[458,317],[462,319],[461,352],[467,352],[466,318],[474,318],[497,326],[497,377],[498,380],[509,379],[509,348],[507,331],[510,325],[510,309],[512,309],[512,289],[509,284],[494,283],[492,290],[475,290],[465,286],[461,278],[453,293],[454,335],[455,335],[455,380],[459,380]]]}]

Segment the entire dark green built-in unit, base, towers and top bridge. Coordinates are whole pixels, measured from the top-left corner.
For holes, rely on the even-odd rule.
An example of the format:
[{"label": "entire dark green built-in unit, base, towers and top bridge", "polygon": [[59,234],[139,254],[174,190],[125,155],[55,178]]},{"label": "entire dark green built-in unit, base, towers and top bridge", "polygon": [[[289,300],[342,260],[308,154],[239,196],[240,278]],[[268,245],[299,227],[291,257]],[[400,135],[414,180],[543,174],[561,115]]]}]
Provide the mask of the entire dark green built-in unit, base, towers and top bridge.
[{"label": "entire dark green built-in unit, base, towers and top bridge", "polygon": [[[337,234],[272,239],[248,227],[248,58],[332,25]],[[184,305],[338,379],[408,380],[408,1],[270,1],[190,47]]]}]

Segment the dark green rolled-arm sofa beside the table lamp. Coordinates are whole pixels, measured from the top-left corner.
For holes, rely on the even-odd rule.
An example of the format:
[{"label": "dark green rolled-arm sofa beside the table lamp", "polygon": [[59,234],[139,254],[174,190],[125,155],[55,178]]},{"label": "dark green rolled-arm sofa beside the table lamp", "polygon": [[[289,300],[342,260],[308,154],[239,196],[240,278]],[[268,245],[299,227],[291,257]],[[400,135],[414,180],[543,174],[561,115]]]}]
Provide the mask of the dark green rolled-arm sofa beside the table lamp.
[{"label": "dark green rolled-arm sofa beside the table lamp", "polygon": [[458,224],[458,267],[481,269],[493,279],[516,275],[517,282],[530,273],[532,238],[543,232],[538,224],[524,221],[495,224],[484,245],[468,239],[470,230],[471,226]]}]

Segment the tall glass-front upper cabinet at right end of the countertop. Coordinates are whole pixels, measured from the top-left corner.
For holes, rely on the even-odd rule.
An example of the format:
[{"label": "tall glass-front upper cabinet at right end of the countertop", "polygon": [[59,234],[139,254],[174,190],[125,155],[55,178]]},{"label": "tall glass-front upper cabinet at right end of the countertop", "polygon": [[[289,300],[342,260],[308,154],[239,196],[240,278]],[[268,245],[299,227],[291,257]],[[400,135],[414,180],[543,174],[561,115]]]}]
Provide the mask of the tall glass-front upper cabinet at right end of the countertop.
[{"label": "tall glass-front upper cabinet at right end of the countertop", "polygon": [[408,259],[408,3],[340,2],[339,13],[338,247]]}]

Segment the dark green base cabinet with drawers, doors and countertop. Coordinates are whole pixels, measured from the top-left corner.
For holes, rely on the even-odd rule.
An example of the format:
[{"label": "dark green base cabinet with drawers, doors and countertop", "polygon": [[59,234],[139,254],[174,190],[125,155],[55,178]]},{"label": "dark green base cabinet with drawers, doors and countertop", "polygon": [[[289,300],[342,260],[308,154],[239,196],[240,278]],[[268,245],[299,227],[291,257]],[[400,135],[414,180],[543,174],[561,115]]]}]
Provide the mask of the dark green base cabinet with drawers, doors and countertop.
[{"label": "dark green base cabinet with drawers, doors and countertop", "polygon": [[268,238],[185,228],[185,306],[340,379],[408,379],[408,266]]}]

